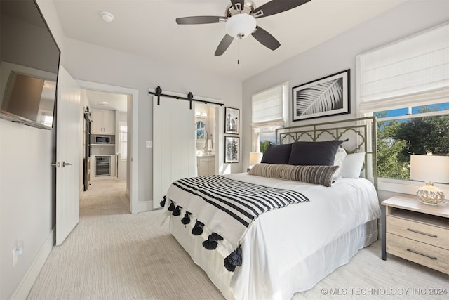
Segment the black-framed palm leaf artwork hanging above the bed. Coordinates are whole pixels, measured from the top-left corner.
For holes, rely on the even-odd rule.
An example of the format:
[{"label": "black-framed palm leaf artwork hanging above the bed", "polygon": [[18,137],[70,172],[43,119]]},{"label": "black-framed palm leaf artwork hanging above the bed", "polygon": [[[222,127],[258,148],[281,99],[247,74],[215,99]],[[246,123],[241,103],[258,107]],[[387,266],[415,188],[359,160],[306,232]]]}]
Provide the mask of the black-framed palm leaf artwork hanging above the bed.
[{"label": "black-framed palm leaf artwork hanging above the bed", "polygon": [[292,89],[293,122],[349,114],[350,72],[344,70]]}]

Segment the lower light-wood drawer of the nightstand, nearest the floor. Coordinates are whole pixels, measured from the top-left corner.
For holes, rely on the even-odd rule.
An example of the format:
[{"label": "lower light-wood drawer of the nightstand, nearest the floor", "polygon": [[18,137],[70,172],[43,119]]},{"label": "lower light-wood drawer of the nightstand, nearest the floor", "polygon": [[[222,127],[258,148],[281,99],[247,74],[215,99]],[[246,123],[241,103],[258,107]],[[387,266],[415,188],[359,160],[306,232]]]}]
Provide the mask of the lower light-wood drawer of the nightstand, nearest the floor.
[{"label": "lower light-wood drawer of the nightstand, nearest the floor", "polygon": [[449,274],[449,250],[387,233],[387,252]]}]

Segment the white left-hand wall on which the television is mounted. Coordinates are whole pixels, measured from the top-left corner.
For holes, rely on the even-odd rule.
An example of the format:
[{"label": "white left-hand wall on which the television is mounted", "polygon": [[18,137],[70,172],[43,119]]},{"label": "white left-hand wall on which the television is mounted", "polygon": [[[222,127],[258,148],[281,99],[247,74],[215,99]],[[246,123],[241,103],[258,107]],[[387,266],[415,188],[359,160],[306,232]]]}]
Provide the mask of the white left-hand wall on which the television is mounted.
[{"label": "white left-hand wall on which the television is mounted", "polygon": [[[64,52],[64,36],[53,2],[37,2]],[[0,299],[9,299],[21,283],[26,289],[23,280],[32,280],[32,272],[27,275],[32,263],[42,254],[46,242],[53,242],[53,136],[54,131],[0,119]],[[23,254],[12,268],[16,240],[23,241]]]}]

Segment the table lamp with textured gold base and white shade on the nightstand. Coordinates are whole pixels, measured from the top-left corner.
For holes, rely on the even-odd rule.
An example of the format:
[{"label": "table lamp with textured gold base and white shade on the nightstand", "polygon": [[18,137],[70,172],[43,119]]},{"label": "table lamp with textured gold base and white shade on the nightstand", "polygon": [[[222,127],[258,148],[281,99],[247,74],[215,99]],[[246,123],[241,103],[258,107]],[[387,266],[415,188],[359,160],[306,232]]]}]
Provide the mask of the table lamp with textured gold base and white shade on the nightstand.
[{"label": "table lamp with textured gold base and white shade on the nightstand", "polygon": [[410,155],[410,179],[425,181],[426,185],[416,193],[423,203],[436,205],[443,202],[444,193],[434,183],[449,183],[449,156],[432,155],[431,152]]}]

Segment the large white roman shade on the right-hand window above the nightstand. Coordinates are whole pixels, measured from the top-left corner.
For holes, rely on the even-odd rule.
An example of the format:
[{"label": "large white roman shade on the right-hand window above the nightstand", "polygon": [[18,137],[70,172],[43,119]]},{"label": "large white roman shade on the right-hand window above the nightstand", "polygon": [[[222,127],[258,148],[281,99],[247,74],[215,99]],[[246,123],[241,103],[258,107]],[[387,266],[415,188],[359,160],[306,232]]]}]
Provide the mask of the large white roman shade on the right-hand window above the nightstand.
[{"label": "large white roman shade on the right-hand window above the nightstand", "polygon": [[449,22],[357,56],[361,112],[443,103],[449,96]]}]

